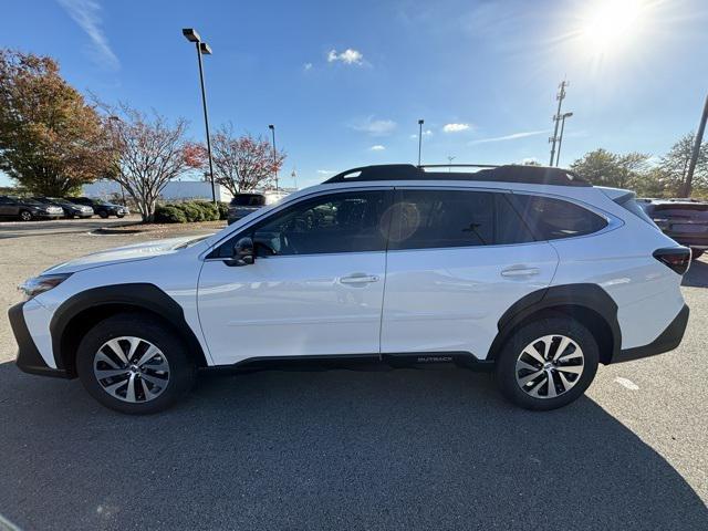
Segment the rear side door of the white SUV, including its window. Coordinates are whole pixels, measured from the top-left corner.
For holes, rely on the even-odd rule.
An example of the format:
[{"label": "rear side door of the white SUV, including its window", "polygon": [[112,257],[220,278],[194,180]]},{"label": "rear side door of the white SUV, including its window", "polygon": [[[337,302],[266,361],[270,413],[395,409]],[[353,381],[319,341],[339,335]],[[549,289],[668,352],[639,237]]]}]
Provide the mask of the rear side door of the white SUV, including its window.
[{"label": "rear side door of the white SUV, including its window", "polygon": [[501,315],[550,284],[558,256],[501,191],[398,189],[391,225],[382,353],[486,358]]}]

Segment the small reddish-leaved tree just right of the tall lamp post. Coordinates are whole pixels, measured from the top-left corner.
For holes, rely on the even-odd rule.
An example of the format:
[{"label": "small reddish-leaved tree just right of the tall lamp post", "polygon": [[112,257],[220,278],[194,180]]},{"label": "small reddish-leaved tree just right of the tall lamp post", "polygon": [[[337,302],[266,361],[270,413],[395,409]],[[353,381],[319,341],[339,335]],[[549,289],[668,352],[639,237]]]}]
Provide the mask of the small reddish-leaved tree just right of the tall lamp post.
[{"label": "small reddish-leaved tree just right of the tall lamp post", "polygon": [[[200,166],[208,169],[207,153],[200,150]],[[277,150],[262,137],[250,134],[237,137],[231,124],[221,126],[211,135],[214,180],[231,194],[266,188],[272,185],[275,171],[285,160],[284,152]]]}]

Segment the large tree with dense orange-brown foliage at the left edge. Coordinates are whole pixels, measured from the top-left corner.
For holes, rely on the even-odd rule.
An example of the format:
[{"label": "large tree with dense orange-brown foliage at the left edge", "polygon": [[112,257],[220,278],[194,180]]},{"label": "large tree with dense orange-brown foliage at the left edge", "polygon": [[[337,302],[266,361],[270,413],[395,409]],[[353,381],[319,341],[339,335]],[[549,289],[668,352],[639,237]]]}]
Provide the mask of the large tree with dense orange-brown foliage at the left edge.
[{"label": "large tree with dense orange-brown foliage at the left edge", "polygon": [[0,169],[38,195],[64,196],[106,174],[95,108],[46,56],[0,50]]}]

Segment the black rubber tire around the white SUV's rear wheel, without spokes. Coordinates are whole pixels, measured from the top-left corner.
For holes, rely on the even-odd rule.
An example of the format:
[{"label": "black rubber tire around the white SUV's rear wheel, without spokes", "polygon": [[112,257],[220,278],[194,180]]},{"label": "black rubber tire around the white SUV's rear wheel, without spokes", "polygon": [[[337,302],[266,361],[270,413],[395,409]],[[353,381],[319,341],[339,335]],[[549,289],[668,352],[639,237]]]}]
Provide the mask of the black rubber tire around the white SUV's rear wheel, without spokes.
[{"label": "black rubber tire around the white SUV's rear wheel, without spokes", "polygon": [[[546,364],[551,363],[548,367],[550,372],[548,372],[543,369],[540,362],[528,356],[528,354],[522,356],[522,352],[524,352],[528,345],[534,343],[541,337],[551,335],[565,336],[572,340],[572,342],[580,347],[582,373],[579,376],[563,371],[563,368],[575,368],[574,364],[581,363],[577,357],[572,361],[569,360],[568,362],[556,362],[555,364],[552,363],[552,360],[546,361]],[[559,348],[559,344],[560,342],[551,343],[551,345],[555,345],[555,350]],[[541,350],[545,348],[542,342],[535,343],[535,345],[539,346],[537,352],[541,352]],[[575,345],[566,347],[564,352],[570,352],[571,354],[575,353]],[[543,357],[549,356],[552,358],[555,354],[553,348],[553,346],[549,346],[550,352],[542,352]],[[525,385],[534,388],[539,383],[542,383],[545,379],[544,384],[541,384],[535,388],[535,393],[541,394],[543,393],[543,389],[545,389],[546,396],[532,396],[529,393],[531,389],[524,391],[521,384],[517,381],[518,374],[522,374],[523,376],[531,376],[534,374],[529,369],[521,369],[521,372],[518,373],[517,361],[520,356],[522,356],[522,362],[527,361],[534,364],[534,366],[537,366],[537,371],[540,371],[540,375],[533,381],[527,382]],[[561,357],[570,356],[562,355]],[[497,384],[506,398],[525,409],[556,409],[577,399],[583,393],[585,393],[595,377],[598,360],[600,352],[597,348],[597,342],[593,334],[582,323],[566,316],[548,316],[522,325],[508,339],[497,357]],[[561,376],[559,373],[561,372],[563,373],[565,382],[572,379],[572,387],[568,389],[565,388],[563,381],[560,379]],[[554,397],[548,396],[549,374],[554,383],[554,391],[552,393],[558,393],[558,396]]]}]

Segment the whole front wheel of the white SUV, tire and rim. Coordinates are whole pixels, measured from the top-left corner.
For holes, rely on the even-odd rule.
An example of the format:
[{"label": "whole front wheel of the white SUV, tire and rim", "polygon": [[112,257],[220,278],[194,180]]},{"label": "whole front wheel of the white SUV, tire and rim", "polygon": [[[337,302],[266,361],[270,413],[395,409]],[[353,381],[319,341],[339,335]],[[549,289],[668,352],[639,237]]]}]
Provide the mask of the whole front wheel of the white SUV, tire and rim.
[{"label": "whole front wheel of the white SUV, tire and rim", "polygon": [[111,409],[157,413],[191,388],[196,366],[181,342],[158,320],[119,314],[94,326],[76,353],[86,391]]}]

